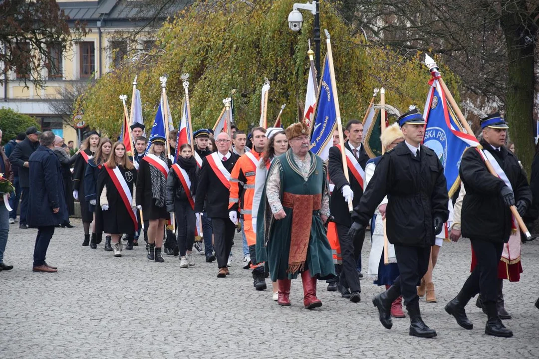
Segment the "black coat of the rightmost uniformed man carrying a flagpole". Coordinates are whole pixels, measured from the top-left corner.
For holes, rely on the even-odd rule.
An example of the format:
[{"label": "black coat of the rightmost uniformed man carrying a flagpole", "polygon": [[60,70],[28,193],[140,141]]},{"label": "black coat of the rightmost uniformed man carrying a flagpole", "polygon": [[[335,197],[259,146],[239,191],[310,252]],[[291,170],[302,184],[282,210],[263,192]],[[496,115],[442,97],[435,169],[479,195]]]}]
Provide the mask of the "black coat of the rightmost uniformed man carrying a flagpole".
[{"label": "black coat of the rightmost uniformed man carrying a flagpole", "polygon": [[[515,202],[524,200],[529,206],[531,190],[516,156],[503,146],[500,152],[494,151],[485,140],[481,141],[481,145],[485,151],[492,153],[506,173],[513,187]],[[505,182],[488,172],[485,162],[475,149],[464,152],[459,174],[466,189],[460,215],[462,236],[507,243],[511,234],[511,212],[500,195]]]}]

